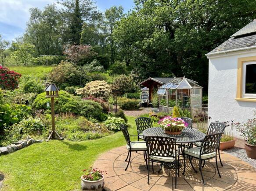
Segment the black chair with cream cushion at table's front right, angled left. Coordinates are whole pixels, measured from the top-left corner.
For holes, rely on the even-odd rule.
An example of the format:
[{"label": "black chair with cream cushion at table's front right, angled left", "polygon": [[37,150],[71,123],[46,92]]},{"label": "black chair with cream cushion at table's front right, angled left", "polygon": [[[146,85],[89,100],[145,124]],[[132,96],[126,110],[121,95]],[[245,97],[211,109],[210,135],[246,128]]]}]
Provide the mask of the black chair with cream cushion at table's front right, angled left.
[{"label": "black chair with cream cushion at table's front right, angled left", "polygon": [[[205,139],[202,142],[201,147],[190,148],[190,149],[185,150],[183,153],[184,170],[183,170],[182,174],[183,175],[185,174],[185,170],[186,170],[185,155],[187,155],[190,160],[190,163],[191,163],[190,157],[193,157],[193,158],[196,158],[199,160],[199,170],[200,170],[200,173],[202,176],[202,181],[204,184],[206,184],[206,182],[204,181],[204,177],[202,174],[202,161],[206,161],[206,160],[215,158],[218,174],[219,174],[219,177],[221,178],[220,171],[218,168],[218,163],[217,163],[217,148],[219,146],[221,136],[222,136],[222,133],[206,135]],[[195,167],[193,166],[192,163],[191,163],[191,166],[192,166],[193,170],[197,173],[197,170],[195,170]]]}]

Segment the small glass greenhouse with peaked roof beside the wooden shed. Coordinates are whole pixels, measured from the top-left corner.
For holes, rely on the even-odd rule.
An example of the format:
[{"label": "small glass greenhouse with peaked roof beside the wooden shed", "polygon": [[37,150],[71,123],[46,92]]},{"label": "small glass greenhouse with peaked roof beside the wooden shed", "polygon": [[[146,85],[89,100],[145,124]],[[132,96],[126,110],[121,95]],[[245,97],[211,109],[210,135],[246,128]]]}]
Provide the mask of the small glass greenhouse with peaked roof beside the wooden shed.
[{"label": "small glass greenhouse with peaked roof beside the wooden shed", "polygon": [[159,111],[171,112],[174,106],[188,109],[191,114],[202,111],[202,87],[185,78],[175,78],[159,87]]}]

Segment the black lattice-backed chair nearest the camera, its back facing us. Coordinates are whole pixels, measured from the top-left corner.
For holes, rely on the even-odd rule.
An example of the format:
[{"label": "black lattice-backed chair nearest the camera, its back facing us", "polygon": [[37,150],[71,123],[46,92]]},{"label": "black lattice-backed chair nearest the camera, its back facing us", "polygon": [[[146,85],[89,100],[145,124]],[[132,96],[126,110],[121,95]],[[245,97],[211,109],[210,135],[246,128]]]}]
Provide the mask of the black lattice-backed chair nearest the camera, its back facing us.
[{"label": "black lattice-backed chair nearest the camera, its back facing us", "polygon": [[[148,148],[148,184],[149,184],[149,167],[152,163],[152,171],[154,172],[153,162],[161,163],[174,163],[175,164],[175,188],[177,185],[177,174],[179,175],[180,155],[179,149],[176,151],[176,140],[169,137],[148,136],[145,137]],[[179,147],[180,148],[180,147]],[[178,160],[177,160],[178,156]],[[161,170],[161,169],[160,169]],[[178,172],[177,172],[178,171]]]}]

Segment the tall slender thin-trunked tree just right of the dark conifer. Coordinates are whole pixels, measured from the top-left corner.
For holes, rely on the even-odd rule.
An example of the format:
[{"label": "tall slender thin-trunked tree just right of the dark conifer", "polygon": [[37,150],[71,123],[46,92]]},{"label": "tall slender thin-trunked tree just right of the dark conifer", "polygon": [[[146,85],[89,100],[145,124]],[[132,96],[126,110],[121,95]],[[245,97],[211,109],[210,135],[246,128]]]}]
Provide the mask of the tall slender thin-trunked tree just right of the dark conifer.
[{"label": "tall slender thin-trunked tree just right of the dark conifer", "polygon": [[123,7],[110,7],[110,9],[107,9],[105,11],[105,19],[107,24],[107,29],[109,32],[108,36],[108,42],[110,46],[110,60],[113,64],[115,62],[115,42],[113,38],[113,31],[115,28],[116,21],[119,21],[119,19],[123,16]]}]

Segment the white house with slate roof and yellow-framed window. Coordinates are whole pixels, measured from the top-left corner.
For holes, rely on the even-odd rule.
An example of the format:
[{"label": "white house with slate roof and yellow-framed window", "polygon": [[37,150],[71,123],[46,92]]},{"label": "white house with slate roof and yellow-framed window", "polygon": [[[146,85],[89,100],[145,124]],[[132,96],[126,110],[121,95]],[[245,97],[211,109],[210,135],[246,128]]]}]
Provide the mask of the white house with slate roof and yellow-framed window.
[{"label": "white house with slate roof and yellow-framed window", "polygon": [[[208,115],[247,122],[256,108],[256,20],[206,54],[209,59]],[[235,137],[240,133],[234,128]]]}]

